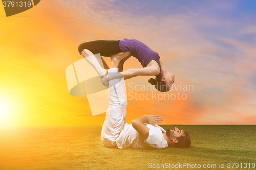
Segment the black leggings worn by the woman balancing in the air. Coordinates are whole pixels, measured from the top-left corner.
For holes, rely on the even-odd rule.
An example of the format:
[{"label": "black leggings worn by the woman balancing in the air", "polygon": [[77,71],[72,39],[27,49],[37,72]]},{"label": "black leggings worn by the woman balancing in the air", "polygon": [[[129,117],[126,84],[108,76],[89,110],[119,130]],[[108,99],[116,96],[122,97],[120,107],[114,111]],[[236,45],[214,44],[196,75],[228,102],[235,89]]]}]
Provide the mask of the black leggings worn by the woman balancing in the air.
[{"label": "black leggings worn by the woman balancing in the air", "polygon": [[121,53],[119,47],[120,40],[96,40],[81,43],[78,46],[78,52],[81,52],[84,49],[90,50],[93,54],[100,53],[101,56],[110,57],[110,55]]}]

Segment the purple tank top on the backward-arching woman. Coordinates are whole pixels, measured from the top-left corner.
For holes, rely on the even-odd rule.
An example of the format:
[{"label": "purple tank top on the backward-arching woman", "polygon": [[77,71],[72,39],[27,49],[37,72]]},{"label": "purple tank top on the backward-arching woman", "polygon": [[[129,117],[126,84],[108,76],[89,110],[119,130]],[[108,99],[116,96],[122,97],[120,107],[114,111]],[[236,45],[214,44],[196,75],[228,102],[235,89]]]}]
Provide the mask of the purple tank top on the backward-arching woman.
[{"label": "purple tank top on the backward-arching woman", "polygon": [[[160,64],[160,57],[157,52],[151,50],[150,47],[146,46],[141,41],[138,41],[134,38],[123,38],[120,39],[119,47],[122,52],[131,52],[134,57],[136,57],[143,67],[146,67],[148,63],[152,60],[156,60],[159,67],[160,73],[162,72],[161,64]],[[156,75],[156,76],[158,76]]]}]

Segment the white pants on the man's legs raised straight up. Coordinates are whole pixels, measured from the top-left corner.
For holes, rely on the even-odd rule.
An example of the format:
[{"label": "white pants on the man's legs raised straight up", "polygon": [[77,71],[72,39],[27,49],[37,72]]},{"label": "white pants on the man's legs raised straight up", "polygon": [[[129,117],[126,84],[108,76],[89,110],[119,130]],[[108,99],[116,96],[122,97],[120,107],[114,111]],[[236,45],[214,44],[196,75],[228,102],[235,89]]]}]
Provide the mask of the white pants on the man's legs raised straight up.
[{"label": "white pants on the man's legs raised straight up", "polygon": [[[111,68],[109,75],[116,74],[118,68]],[[126,122],[127,100],[124,93],[124,80],[115,79],[110,81],[109,108],[106,111],[105,122],[101,130],[101,141],[106,147],[116,147],[116,140],[123,130]]]}]

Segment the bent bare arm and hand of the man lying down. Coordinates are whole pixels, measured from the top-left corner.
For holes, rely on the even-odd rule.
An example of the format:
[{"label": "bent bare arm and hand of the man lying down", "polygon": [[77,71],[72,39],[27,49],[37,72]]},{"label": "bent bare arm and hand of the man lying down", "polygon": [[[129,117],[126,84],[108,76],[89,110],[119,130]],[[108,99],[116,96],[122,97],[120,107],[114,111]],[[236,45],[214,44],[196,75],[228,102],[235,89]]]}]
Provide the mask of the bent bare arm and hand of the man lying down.
[{"label": "bent bare arm and hand of the man lying down", "polygon": [[146,140],[150,133],[150,128],[146,127],[144,123],[156,125],[156,124],[161,124],[162,121],[163,121],[163,118],[158,115],[144,115],[132,120],[132,125],[134,129],[137,132],[139,132]]}]

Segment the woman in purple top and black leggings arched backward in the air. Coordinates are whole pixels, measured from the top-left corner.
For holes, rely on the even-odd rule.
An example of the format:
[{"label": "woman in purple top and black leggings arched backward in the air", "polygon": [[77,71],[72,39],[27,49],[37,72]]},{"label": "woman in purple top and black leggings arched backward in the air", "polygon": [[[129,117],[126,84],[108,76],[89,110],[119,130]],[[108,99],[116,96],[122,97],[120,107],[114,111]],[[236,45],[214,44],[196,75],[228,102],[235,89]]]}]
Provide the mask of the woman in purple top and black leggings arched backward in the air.
[{"label": "woman in purple top and black leggings arched backward in the air", "polygon": [[[95,68],[98,75],[108,75],[107,69],[109,69],[103,59],[104,68],[102,68],[94,56],[100,53],[101,56],[111,57],[112,67],[119,68],[124,80],[136,76],[156,76],[155,79],[148,80],[148,83],[155,85],[158,91],[168,91],[175,82],[175,75],[162,64],[158,53],[134,38],[84,42],[79,45],[78,51]],[[131,56],[136,57],[143,68],[130,68],[123,71],[123,63]],[[109,76],[108,79],[115,78]],[[108,80],[102,79],[102,83],[106,85]]]}]

